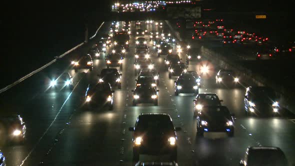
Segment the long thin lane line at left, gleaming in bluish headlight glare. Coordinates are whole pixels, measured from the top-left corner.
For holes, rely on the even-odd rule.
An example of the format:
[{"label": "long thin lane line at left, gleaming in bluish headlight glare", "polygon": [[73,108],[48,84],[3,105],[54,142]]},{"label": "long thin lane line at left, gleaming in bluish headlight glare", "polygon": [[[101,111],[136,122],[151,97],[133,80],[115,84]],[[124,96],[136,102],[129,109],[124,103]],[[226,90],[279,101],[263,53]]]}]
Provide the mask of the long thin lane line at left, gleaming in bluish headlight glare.
[{"label": "long thin lane line at left, gleaming in bluish headlight glare", "polygon": [[69,97],[71,96],[71,93],[73,92],[73,90],[77,87],[77,85],[79,84],[79,82],[81,81],[81,79],[83,78],[83,76],[80,78],[80,80],[76,83],[76,85],[74,86],[74,88],[71,90],[71,92],[68,94],[67,98],[65,99],[65,101],[62,103],[61,107],[59,108],[58,112],[56,113],[54,119],[51,121],[51,123],[49,124],[49,126],[46,128],[46,130],[43,132],[43,134],[41,135],[41,137],[37,140],[37,142],[34,144],[34,146],[32,147],[32,149],[28,152],[28,154],[26,155],[26,157],[21,161],[21,164],[19,166],[22,166],[24,164],[24,162],[27,160],[27,158],[30,156],[30,154],[35,150],[35,148],[37,147],[37,145],[40,143],[40,141],[42,140],[42,138],[45,136],[45,134],[48,132],[49,128],[52,126],[52,124],[55,122],[57,116],[59,115],[60,111],[62,110],[63,106],[65,105],[66,101],[69,99]]}]

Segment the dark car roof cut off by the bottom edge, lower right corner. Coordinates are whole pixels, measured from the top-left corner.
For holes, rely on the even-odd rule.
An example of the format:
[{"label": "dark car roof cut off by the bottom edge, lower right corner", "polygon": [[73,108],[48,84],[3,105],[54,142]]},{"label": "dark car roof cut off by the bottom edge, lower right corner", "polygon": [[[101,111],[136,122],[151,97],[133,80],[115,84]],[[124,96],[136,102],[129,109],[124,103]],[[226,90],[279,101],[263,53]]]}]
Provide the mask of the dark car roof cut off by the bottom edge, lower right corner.
[{"label": "dark car roof cut off by the bottom edge, lower right corner", "polygon": [[275,146],[249,146],[243,158],[239,161],[240,165],[269,165],[287,166],[288,160],[284,152]]}]

